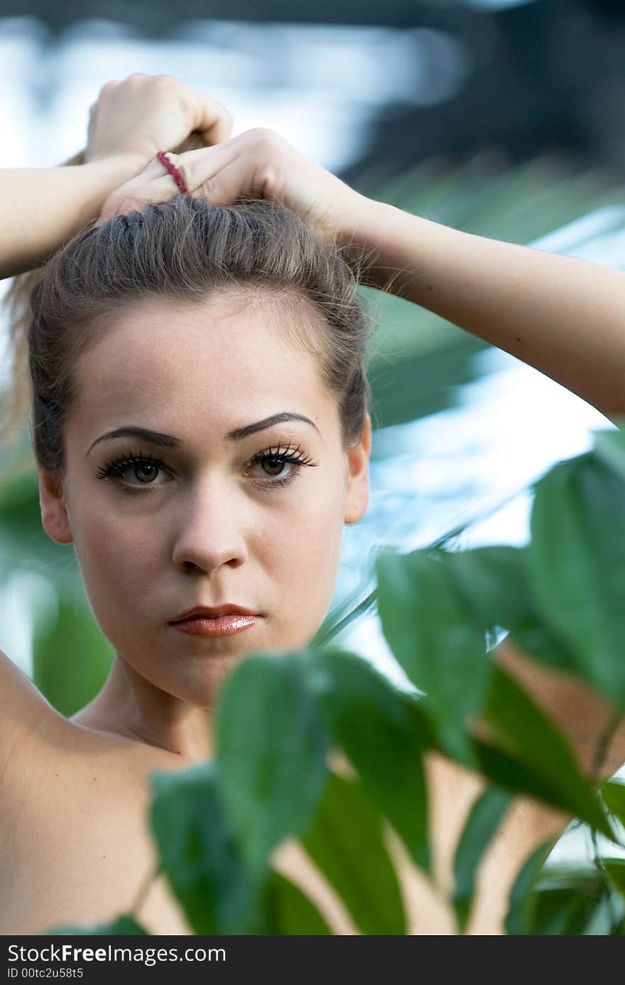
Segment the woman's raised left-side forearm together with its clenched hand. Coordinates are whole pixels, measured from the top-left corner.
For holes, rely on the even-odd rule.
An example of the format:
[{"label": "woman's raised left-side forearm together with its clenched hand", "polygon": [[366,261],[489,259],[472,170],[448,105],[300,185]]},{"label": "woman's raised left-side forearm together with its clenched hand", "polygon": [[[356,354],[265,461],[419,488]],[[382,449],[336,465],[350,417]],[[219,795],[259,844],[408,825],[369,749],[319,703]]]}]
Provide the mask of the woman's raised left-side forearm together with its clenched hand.
[{"label": "woman's raised left-side forearm together with its clenched hand", "polygon": [[107,82],[91,108],[87,149],[70,166],[0,170],[0,278],[43,263],[158,151],[178,147],[192,132],[216,144],[230,129],[219,102],[170,76],[135,73]]}]

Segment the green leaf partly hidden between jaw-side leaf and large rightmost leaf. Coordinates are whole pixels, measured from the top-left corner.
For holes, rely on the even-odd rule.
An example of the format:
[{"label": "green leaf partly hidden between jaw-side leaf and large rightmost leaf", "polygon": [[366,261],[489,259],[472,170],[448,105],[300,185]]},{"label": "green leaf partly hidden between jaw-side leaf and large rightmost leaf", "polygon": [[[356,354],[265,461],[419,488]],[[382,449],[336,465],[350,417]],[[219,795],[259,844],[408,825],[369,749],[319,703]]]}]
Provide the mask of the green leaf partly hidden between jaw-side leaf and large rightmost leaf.
[{"label": "green leaf partly hidden between jaw-side leaf and large rightmost leaf", "polygon": [[543,663],[575,670],[562,641],[543,620],[532,596],[525,548],[488,547],[447,553],[445,564],[484,630],[509,629],[514,641]]}]

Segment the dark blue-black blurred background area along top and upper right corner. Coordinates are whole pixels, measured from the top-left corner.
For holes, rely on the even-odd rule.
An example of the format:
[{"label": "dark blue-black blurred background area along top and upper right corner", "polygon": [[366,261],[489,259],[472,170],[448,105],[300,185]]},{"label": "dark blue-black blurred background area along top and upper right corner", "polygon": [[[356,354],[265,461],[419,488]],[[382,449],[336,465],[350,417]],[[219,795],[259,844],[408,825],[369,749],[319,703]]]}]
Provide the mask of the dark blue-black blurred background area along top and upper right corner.
[{"label": "dark blue-black blurred background area along top and upper right corner", "polygon": [[346,180],[357,182],[372,164],[381,177],[391,176],[428,157],[456,162],[493,145],[510,164],[555,152],[581,169],[597,164],[620,169],[625,164],[625,4],[530,0],[497,10],[482,3],[487,0],[318,0],[314,5],[2,0],[0,17],[35,17],[52,45],[60,34],[92,19],[127,25],[145,37],[167,37],[185,22],[206,19],[441,31],[469,54],[471,70],[462,91],[433,105],[387,106],[370,130],[364,156],[344,173]]}]

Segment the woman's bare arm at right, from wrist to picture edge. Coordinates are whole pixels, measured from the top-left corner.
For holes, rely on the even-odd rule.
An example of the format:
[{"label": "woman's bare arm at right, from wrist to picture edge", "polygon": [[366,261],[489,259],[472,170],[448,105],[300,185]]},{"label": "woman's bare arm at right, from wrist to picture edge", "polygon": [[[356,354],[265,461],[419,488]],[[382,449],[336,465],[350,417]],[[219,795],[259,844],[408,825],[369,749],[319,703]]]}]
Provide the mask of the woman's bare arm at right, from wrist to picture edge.
[{"label": "woman's bare arm at right, from wrist to picture edge", "polygon": [[380,250],[372,286],[528,362],[602,414],[625,415],[625,273],[365,203],[346,238]]}]

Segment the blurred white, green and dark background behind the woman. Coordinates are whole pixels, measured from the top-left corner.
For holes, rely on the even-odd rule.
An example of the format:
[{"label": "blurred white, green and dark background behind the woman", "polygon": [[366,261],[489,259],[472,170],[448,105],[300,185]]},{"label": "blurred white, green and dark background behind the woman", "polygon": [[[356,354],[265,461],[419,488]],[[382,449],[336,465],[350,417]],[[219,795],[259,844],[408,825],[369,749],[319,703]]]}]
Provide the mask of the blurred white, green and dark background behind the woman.
[{"label": "blurred white, green and dark background behind the woman", "polygon": [[[371,197],[624,269],[624,55],[618,0],[0,0],[0,166],[61,164],[84,147],[104,82],[164,73],[224,103],[233,135],[277,130]],[[370,506],[345,528],[328,625],[344,620],[337,641],[401,682],[367,602],[375,552],[452,532],[456,546],[525,543],[531,482],[611,426],[429,312],[362,295],[377,326],[380,427]],[[1,387],[6,331],[5,313]],[[112,652],[73,549],[41,528],[28,421],[11,439],[0,456],[0,647],[72,714]]]}]

